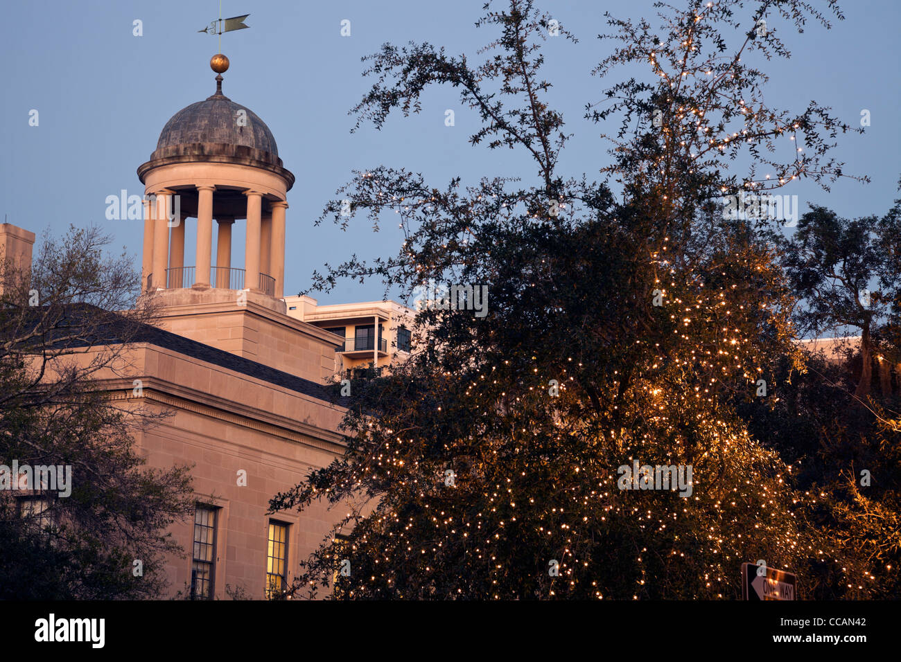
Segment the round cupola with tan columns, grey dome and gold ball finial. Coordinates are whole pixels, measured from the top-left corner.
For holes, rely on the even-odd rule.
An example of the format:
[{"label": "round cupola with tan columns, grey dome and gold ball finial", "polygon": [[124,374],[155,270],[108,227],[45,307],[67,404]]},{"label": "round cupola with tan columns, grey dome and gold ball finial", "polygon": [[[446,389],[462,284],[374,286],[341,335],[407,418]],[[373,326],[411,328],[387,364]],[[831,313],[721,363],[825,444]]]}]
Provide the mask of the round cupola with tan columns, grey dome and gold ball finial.
[{"label": "round cupola with tan columns, grey dome and gold ball finial", "polygon": [[[223,95],[228,58],[215,55],[210,67],[217,74],[214,95],[175,113],[150,160],[138,168],[150,197],[145,202],[143,288],[246,290],[280,299],[287,192],[295,177],[278,158],[266,122]],[[194,267],[185,266],[189,218],[197,219]],[[214,219],[219,229],[213,266]],[[241,219],[247,222],[243,269],[231,264],[232,224]]]}]

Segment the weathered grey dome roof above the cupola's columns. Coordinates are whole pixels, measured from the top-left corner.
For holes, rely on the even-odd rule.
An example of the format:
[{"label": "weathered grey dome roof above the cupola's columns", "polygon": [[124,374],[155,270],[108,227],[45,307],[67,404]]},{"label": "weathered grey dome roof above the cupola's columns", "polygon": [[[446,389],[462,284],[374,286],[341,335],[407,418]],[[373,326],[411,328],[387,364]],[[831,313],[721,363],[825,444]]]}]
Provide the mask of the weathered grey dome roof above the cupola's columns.
[{"label": "weathered grey dome roof above the cupola's columns", "polygon": [[157,152],[161,155],[168,147],[196,143],[240,145],[278,157],[276,139],[266,122],[221,90],[172,115],[159,134]]}]

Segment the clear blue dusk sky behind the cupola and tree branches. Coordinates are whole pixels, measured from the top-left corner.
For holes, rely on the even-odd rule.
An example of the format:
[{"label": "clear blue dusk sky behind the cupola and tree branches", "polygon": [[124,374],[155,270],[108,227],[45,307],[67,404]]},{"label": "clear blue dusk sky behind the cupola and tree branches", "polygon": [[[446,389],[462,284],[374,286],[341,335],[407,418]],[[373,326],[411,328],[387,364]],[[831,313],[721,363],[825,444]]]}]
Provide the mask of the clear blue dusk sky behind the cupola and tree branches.
[{"label": "clear blue dusk sky behind the cupola and tree branches", "polygon": [[[420,115],[397,115],[382,131],[364,126],[349,132],[353,118],[347,111],[370,85],[360,76],[361,56],[386,41],[430,41],[476,58],[478,47],[494,36],[473,26],[482,2],[223,2],[224,17],[250,14],[250,30],[223,35],[223,53],[232,61],[223,91],[268,123],[279,156],[297,177],[288,194],[286,294],[309,286],[310,274],[322,270],[324,262],[337,264],[354,252],[364,258],[396,253],[401,237],[390,224],[378,234],[365,221],[347,232],[331,223],[314,227],[323,204],[349,180],[352,168],[404,167],[440,187],[458,175],[464,182],[535,176],[535,168],[515,153],[469,146],[477,117],[460,106],[451,89],[425,95]],[[575,45],[552,39],[545,51],[546,77],[555,85],[551,102],[576,133],[562,160],[567,175],[591,177],[607,162],[602,129],[582,119],[585,104],[600,99],[601,90],[613,82],[590,76],[610,48],[596,39],[606,32],[603,13],[653,18],[651,5],[651,0],[542,4],[579,39]],[[844,181],[828,195],[801,182],[782,193],[799,195],[802,213],[805,202],[814,201],[846,216],[881,214],[898,196],[901,175],[896,48],[901,2],[845,0],[842,9],[847,18],[834,21],[832,31],[809,23],[804,34],[788,37],[793,58],[776,60],[769,69],[768,101],[800,111],[815,99],[855,125],[861,109],[869,109],[867,132],[840,136],[835,154],[847,163],[846,171],[873,181]],[[214,92],[208,61],[216,38],[197,31],[217,14],[215,0],[5,3],[0,214],[32,231],[50,229],[57,235],[69,223],[96,223],[114,235],[115,248],[124,246],[140,262],[141,222],[107,221],[105,198],[121,189],[141,195],[135,169],[150,158],[165,122]],[[141,37],[132,36],[135,19],[143,22]],[[351,22],[350,37],[341,37],[342,19]],[[448,108],[456,113],[453,127],[444,125]],[[32,109],[40,113],[37,127],[29,126]],[[242,244],[241,228],[235,241]],[[186,248],[192,255],[193,243]],[[237,263],[242,259],[235,258]],[[338,303],[381,295],[375,281],[348,282],[319,298]]]}]

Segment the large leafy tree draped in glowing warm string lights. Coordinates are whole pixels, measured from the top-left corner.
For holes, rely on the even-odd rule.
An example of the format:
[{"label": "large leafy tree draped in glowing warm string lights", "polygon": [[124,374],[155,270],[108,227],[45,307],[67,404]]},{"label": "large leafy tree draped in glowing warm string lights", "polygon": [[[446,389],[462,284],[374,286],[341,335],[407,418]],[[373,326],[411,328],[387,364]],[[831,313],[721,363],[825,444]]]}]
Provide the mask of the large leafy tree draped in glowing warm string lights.
[{"label": "large leafy tree draped in glowing warm string lights", "polygon": [[[369,222],[399,218],[405,241],[314,286],[487,286],[489,312],[460,305],[468,293],[452,305],[425,297],[418,350],[354,388],[346,455],[271,501],[273,512],[318,499],[348,512],[292,594],[735,598],[742,561],[790,567],[811,594],[863,571],[856,557],[831,563],[841,547],[808,523],[818,494],[796,491],[795,467],[739,413],[799,357],[767,219],[721,210],[724,194],[842,176],[826,137],[849,127],[815,104],[769,109],[765,77],[744,61],[787,55],[774,32],[757,36],[762,16],[826,22],[790,0],[660,6],[659,31],[611,19],[621,45],[597,73],[637,61],[651,78],[609,87],[603,110],[587,103],[597,122],[623,117],[599,182],[561,172],[570,136],[546,100],[541,47],[549,29],[575,38],[534,3],[486,5],[477,25],[494,38],[478,65],[430,44],[367,58],[377,82],[354,109],[358,126],[418,112],[424,88],[453,86],[482,121],[469,141],[520,150],[536,176],[438,187],[378,166],[339,190]],[[809,145],[803,160],[794,148],[778,159],[788,133]],[[729,176],[740,153],[751,175]],[[754,177],[768,166],[769,179]],[[346,227],[341,206],[323,218]],[[643,489],[634,463],[693,474],[678,491]]]}]

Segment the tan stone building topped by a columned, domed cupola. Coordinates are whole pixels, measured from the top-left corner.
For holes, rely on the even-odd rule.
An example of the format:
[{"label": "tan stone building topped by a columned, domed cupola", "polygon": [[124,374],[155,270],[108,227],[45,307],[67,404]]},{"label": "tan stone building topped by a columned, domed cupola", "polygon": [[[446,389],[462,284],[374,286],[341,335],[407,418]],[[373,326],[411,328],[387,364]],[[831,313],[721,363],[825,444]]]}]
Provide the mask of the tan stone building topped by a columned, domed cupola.
[{"label": "tan stone building topped by a columned, domed cupola", "polygon": [[[267,514],[272,496],[342,452],[342,410],[323,388],[340,343],[286,314],[294,175],[268,126],[223,95],[227,60],[211,64],[214,94],[173,115],[138,168],[142,296],[160,307],[159,330],[135,349],[131,377],[141,404],[172,416],[137,444],[150,467],[194,467],[196,514],[172,531],[187,558],[168,559],[171,592],[221,599],[240,589],[262,599],[290,583],[298,560],[340,519],[324,506]],[[241,222],[238,268],[232,228]],[[193,260],[187,232],[196,233]],[[139,397],[129,383],[111,378],[109,387]]]}]

